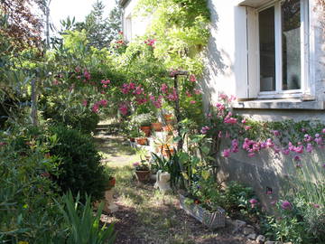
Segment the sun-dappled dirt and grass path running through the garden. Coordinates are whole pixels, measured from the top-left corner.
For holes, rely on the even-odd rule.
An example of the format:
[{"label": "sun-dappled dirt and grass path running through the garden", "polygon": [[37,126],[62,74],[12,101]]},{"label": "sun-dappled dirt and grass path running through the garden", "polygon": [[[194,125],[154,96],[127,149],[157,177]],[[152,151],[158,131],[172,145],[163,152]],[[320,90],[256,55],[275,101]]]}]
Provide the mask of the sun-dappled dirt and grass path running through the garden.
[{"label": "sun-dappled dirt and grass path running through the garden", "polygon": [[138,157],[125,138],[101,130],[96,142],[105,157],[103,163],[116,176],[115,199],[119,211],[102,216],[103,221],[115,223],[116,243],[250,243],[240,236],[234,237],[228,227],[207,230],[180,209],[175,195],[162,194],[153,188],[153,183],[137,183],[132,164]]}]

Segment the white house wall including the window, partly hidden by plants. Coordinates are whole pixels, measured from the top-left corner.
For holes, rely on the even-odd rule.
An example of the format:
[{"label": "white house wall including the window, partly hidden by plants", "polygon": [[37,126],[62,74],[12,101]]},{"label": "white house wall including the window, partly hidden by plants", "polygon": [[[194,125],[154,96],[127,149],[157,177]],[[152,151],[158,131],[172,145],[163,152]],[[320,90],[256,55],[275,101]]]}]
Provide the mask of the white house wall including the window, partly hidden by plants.
[{"label": "white house wall including the window, partly hidden by plants", "polygon": [[[136,2],[120,2],[127,41],[142,35],[147,24],[132,17]],[[245,117],[325,123],[325,42],[316,2],[209,0],[211,35],[200,83],[205,104],[226,93],[237,96],[233,108]],[[322,152],[312,157],[325,158]],[[292,165],[273,152],[220,160],[220,177],[253,185],[265,202],[266,189],[279,188],[274,177],[282,178]]]}]

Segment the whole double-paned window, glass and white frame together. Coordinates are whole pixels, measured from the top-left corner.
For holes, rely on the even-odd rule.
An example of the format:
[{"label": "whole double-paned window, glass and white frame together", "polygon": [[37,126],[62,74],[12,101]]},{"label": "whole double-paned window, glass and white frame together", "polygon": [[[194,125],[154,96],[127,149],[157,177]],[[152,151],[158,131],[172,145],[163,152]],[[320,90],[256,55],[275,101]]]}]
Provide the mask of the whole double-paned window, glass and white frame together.
[{"label": "whole double-paned window, glass and white frame together", "polygon": [[308,1],[285,0],[258,9],[259,97],[307,89]]}]

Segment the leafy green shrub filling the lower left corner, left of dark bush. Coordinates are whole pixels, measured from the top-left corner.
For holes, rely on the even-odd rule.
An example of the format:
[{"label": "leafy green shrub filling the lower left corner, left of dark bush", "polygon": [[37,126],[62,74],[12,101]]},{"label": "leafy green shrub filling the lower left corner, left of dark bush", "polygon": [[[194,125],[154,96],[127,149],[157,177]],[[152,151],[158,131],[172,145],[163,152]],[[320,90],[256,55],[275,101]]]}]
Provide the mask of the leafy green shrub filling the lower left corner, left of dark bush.
[{"label": "leafy green shrub filling the lower left corner, left of dark bush", "polygon": [[51,180],[58,160],[47,155],[55,138],[42,142],[25,130],[0,132],[0,243],[51,243],[62,220]]}]

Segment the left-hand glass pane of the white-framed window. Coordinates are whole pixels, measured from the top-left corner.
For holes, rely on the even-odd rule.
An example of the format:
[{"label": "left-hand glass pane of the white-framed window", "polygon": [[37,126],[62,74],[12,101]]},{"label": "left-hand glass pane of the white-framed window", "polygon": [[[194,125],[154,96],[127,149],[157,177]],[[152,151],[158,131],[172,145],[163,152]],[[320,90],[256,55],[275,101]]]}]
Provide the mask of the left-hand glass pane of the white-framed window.
[{"label": "left-hand glass pane of the white-framed window", "polygon": [[274,6],[259,13],[261,91],[275,90]]}]

